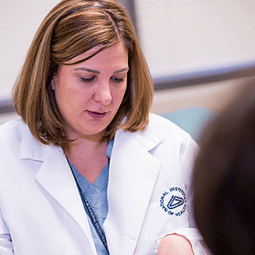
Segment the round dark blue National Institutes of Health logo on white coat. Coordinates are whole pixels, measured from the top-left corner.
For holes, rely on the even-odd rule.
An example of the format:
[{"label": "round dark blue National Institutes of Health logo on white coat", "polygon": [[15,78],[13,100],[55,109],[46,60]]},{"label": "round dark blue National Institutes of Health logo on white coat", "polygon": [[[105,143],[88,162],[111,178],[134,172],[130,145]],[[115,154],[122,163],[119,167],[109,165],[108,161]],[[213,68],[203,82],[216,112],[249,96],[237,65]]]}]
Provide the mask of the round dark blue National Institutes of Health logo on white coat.
[{"label": "round dark blue National Institutes of Health logo on white coat", "polygon": [[169,215],[181,216],[187,207],[185,192],[178,187],[169,188],[160,197],[160,206]]}]

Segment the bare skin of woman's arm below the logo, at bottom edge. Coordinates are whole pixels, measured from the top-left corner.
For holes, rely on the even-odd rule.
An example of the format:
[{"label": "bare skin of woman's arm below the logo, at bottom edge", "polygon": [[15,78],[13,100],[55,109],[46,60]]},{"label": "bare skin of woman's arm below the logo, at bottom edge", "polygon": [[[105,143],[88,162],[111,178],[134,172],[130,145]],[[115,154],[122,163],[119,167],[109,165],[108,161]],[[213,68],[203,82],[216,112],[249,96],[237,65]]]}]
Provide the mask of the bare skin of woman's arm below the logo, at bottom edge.
[{"label": "bare skin of woman's arm below the logo, at bottom edge", "polygon": [[157,255],[194,255],[194,253],[186,237],[172,234],[161,239]]}]

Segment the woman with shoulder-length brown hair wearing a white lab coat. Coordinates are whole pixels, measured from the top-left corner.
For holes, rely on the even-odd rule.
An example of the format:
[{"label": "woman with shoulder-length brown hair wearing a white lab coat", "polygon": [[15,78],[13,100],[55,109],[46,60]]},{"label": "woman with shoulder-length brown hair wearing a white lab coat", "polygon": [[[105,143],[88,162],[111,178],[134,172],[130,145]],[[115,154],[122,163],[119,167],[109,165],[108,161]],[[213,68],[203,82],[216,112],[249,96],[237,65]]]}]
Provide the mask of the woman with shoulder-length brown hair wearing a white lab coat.
[{"label": "woman with shoulder-length brown hair wearing a white lab coat", "polygon": [[[153,84],[115,0],[64,0],[0,131],[1,254],[204,254],[189,227],[197,145],[149,114]],[[188,205],[188,209],[187,209]]]}]

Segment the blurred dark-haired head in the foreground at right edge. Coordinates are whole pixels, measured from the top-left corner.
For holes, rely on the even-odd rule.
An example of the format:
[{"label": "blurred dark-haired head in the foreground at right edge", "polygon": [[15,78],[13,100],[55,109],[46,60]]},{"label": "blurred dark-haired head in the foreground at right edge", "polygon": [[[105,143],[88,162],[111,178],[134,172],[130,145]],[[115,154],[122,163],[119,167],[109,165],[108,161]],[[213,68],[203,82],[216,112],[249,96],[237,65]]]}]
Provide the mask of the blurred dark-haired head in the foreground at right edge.
[{"label": "blurred dark-haired head in the foreground at right edge", "polygon": [[194,166],[194,215],[217,255],[255,254],[255,80],[204,130]]}]

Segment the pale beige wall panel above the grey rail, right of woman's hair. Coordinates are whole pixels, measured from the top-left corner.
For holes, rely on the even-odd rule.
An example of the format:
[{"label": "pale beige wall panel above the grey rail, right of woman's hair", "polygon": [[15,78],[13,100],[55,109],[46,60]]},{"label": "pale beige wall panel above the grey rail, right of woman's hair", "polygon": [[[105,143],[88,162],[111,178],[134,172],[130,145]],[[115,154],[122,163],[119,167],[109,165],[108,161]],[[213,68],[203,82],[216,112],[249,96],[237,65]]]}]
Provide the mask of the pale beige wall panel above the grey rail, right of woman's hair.
[{"label": "pale beige wall panel above the grey rail, right of woman's hair", "polygon": [[154,77],[255,60],[254,0],[135,0],[139,39]]}]

